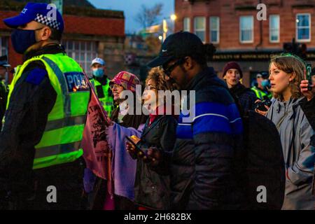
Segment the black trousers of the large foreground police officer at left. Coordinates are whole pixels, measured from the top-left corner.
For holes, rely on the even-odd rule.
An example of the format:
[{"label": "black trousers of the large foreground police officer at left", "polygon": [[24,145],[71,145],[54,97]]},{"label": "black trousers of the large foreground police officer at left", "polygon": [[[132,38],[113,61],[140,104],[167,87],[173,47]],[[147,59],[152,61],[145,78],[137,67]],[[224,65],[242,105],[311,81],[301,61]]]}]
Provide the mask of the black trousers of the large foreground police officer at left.
[{"label": "black trousers of the large foreground police officer at left", "polygon": [[[82,204],[84,168],[85,162],[79,158],[64,165],[35,170],[34,197],[27,200],[27,209],[83,209],[85,206]],[[53,195],[54,190],[56,195]],[[56,197],[54,198],[54,196]],[[53,199],[56,199],[56,202],[53,202]]]}]

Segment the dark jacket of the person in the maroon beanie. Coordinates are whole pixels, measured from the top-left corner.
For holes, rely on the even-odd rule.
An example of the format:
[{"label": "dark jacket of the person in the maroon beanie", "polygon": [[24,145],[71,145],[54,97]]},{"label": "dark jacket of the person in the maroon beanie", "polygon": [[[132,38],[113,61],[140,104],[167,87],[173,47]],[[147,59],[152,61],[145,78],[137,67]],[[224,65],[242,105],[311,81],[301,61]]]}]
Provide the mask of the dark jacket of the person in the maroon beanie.
[{"label": "dark jacket of the person in the maroon beanie", "polygon": [[232,94],[235,94],[235,97],[239,100],[243,111],[254,110],[255,101],[258,99],[255,92],[241,85],[241,83],[237,83],[237,85],[230,88],[230,91]]}]

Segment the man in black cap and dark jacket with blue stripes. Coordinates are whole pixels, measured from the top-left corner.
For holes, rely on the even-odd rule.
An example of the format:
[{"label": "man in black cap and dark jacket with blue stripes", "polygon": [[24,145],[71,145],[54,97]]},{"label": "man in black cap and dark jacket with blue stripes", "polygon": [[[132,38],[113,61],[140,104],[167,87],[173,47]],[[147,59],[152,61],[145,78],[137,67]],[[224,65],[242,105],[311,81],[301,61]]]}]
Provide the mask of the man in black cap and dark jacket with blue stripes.
[{"label": "man in black cap and dark jacket with blue stripes", "polygon": [[[159,56],[148,64],[162,66],[181,90],[195,93],[193,108],[179,116],[172,154],[153,148],[148,152],[154,158],[153,166],[171,161],[163,171],[170,175],[172,209],[241,206],[234,164],[243,124],[228,87],[207,66],[207,56],[213,54],[213,45],[204,45],[195,34],[180,31],[165,39]],[[189,96],[183,100],[193,100]]]}]

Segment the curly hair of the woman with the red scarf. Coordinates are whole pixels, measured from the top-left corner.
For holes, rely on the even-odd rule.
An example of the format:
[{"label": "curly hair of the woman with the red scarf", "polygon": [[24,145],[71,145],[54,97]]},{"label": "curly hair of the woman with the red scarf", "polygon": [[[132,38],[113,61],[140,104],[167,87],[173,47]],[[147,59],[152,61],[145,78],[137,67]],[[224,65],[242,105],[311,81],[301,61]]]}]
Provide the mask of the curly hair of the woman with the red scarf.
[{"label": "curly hair of the woman with the red scarf", "polygon": [[156,85],[155,87],[157,87],[158,90],[178,90],[177,85],[175,83],[172,83],[171,80],[167,80],[163,69],[160,69],[159,67],[155,67],[148,72],[146,83],[148,82],[148,80],[154,80]]}]

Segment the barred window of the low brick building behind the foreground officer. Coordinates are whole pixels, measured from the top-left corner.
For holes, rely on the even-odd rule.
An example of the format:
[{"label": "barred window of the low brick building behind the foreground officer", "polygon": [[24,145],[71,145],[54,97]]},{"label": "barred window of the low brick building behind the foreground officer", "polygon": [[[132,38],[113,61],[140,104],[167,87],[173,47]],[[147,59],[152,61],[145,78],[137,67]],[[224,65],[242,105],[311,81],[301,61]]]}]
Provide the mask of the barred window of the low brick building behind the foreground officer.
[{"label": "barred window of the low brick building behind the foreground officer", "polygon": [[84,69],[85,73],[91,75],[90,64],[97,57],[97,43],[94,41],[63,41],[69,57],[76,60]]}]

